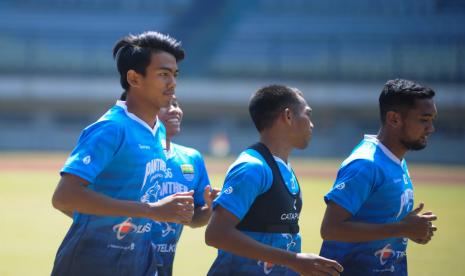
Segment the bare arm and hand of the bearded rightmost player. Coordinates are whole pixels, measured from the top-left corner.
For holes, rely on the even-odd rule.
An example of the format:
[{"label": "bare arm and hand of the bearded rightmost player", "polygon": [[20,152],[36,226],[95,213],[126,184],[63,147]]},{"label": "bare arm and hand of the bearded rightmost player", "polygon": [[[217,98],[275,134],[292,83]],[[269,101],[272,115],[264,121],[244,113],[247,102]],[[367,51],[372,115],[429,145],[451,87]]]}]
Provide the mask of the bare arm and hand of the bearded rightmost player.
[{"label": "bare arm and hand of the bearded rightmost player", "polygon": [[436,216],[430,212],[420,214],[423,204],[410,212],[402,221],[374,224],[352,221],[352,214],[333,201],[329,201],[321,224],[324,240],[342,242],[366,242],[395,237],[408,237],[419,243],[427,243],[436,231],[431,221]]}]

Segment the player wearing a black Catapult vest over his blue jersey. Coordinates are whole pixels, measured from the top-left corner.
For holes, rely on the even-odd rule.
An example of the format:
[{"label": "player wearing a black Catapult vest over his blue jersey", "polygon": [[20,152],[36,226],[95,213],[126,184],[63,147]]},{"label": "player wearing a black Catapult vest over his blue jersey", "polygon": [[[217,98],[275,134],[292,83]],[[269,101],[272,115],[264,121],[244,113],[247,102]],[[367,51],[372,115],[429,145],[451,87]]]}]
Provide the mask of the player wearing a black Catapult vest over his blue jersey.
[{"label": "player wearing a black Catapult vest over his blue jersey", "polygon": [[300,253],[302,197],[288,157],[309,144],[310,107],[299,90],[270,85],[249,112],[260,143],[231,165],[213,203],[205,240],[219,251],[208,275],[339,275],[337,262]]}]

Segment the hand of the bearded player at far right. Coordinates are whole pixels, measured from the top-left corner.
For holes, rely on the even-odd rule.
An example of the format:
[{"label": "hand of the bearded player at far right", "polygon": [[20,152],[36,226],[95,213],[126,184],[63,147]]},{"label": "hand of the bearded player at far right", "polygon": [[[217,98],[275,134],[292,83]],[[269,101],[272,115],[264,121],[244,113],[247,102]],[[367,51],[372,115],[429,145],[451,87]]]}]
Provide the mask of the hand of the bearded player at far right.
[{"label": "hand of the bearded player at far right", "polygon": [[424,204],[420,203],[415,210],[411,211],[401,221],[405,226],[406,236],[412,241],[420,244],[428,243],[437,230],[437,227],[432,223],[437,219],[437,216],[430,211],[420,214],[423,207]]}]

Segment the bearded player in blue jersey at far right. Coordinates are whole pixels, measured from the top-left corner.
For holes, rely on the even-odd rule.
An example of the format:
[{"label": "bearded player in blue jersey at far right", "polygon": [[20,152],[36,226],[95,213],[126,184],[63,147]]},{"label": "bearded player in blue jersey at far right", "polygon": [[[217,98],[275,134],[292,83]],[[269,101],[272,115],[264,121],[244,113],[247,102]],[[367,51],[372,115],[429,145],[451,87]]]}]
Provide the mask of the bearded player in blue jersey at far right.
[{"label": "bearded player in blue jersey at far right", "polygon": [[407,275],[407,241],[426,244],[436,227],[432,212],[413,209],[409,150],[426,147],[433,133],[435,92],[396,79],[379,96],[381,128],[365,135],[342,162],[326,194],[320,254],[344,266],[344,275]]}]

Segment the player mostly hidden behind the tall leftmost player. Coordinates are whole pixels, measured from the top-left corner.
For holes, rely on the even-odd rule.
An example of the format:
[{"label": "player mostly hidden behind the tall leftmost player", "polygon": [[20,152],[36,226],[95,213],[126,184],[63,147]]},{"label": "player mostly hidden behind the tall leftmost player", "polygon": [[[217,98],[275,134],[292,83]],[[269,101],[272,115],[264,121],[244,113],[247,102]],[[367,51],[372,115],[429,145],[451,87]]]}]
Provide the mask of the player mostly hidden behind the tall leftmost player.
[{"label": "player mostly hidden behind the tall leftmost player", "polygon": [[[219,190],[211,188],[202,155],[193,148],[175,144],[171,139],[181,131],[183,112],[174,97],[169,107],[163,107],[158,118],[166,128],[166,167],[165,182],[158,191],[158,197],[164,198],[176,192],[194,191],[194,216],[187,224],[200,227],[207,224],[212,212],[212,201]],[[152,242],[156,254],[162,259],[158,275],[169,276],[173,273],[176,245],[181,236],[183,225],[171,222],[155,221],[152,226]]]}]

